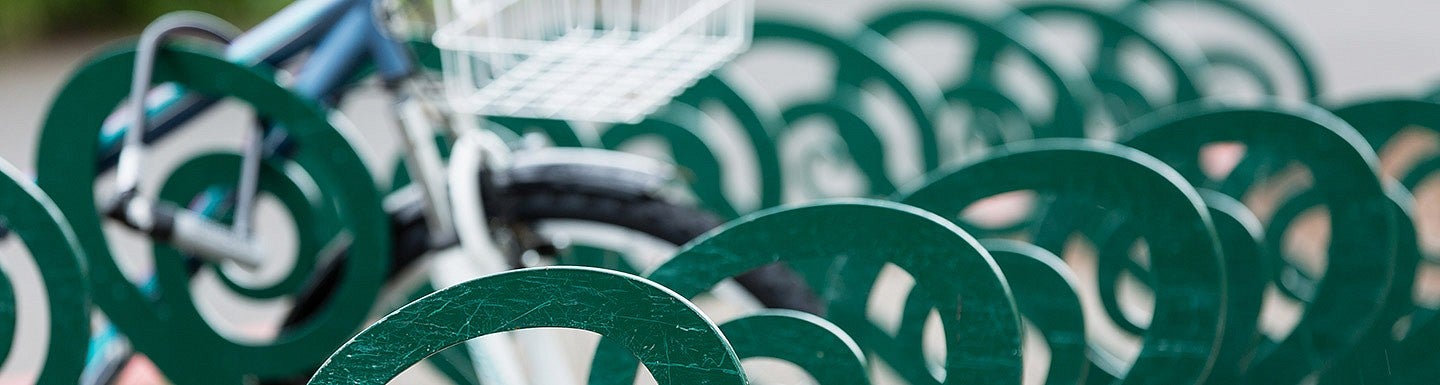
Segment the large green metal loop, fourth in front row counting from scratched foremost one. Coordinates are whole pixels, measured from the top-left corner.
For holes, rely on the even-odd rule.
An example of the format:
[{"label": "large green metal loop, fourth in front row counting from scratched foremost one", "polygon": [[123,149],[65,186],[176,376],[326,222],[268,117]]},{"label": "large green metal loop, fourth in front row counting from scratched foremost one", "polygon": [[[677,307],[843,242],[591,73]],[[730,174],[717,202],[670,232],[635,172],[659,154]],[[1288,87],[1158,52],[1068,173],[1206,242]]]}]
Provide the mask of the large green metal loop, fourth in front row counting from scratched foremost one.
[{"label": "large green metal loop, fourth in front row counting from scratched foremost one", "polygon": [[[1299,384],[1361,342],[1381,314],[1394,277],[1397,226],[1375,153],[1359,133],[1318,107],[1282,102],[1191,102],[1135,121],[1128,131],[1136,134],[1126,144],[1175,166],[1197,186],[1217,185],[1198,172],[1201,149],[1215,143],[1240,143],[1247,151],[1296,161],[1315,177],[1332,226],[1325,278],[1295,330],[1263,345],[1243,381]],[[1276,234],[1273,228],[1266,232]]]}]

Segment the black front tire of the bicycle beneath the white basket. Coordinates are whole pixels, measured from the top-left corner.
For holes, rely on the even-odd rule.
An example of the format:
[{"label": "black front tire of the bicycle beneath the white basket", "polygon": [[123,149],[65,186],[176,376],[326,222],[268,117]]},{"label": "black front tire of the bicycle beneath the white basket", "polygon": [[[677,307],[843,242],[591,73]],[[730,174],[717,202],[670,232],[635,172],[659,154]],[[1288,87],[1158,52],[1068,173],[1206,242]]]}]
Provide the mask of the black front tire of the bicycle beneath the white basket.
[{"label": "black front tire of the bicycle beneath the white basket", "polygon": [[[501,176],[482,176],[481,180],[487,183],[481,189],[485,216],[500,224],[576,219],[638,231],[672,245],[683,245],[721,224],[708,212],[661,196],[658,192],[667,183],[664,177],[599,161],[520,166]],[[395,239],[389,278],[400,275],[435,248],[429,244],[422,205],[413,200],[389,209]],[[285,326],[307,320],[324,304],[325,293],[344,264],[346,255],[340,255],[317,267],[318,278],[297,297]],[[736,277],[736,281],[765,307],[824,314],[819,297],[789,267],[766,265]]]}]

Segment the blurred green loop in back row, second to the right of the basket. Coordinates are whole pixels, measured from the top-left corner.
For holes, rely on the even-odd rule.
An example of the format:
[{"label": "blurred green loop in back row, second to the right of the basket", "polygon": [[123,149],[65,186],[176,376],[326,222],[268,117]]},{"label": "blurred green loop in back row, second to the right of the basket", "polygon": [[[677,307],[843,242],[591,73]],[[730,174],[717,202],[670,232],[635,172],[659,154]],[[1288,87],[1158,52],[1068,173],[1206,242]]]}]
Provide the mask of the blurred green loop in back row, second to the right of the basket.
[{"label": "blurred green loop in back row, second to the right of the basket", "polygon": [[[1087,123],[1084,104],[1094,98],[1092,95],[1094,91],[1084,78],[1086,72],[1077,62],[1066,62],[1047,52],[1032,36],[1038,26],[1024,14],[1008,12],[986,17],[968,14],[956,7],[901,6],[871,19],[867,26],[887,37],[917,26],[943,26],[975,36],[978,48],[971,58],[968,75],[958,84],[942,85],[948,101],[969,104],[996,115],[1018,115],[1025,121],[1027,130],[1034,130],[1027,133],[1028,137],[1084,137]],[[1021,55],[1041,72],[1045,85],[1054,92],[1054,110],[1044,114],[1018,111],[1020,102],[1002,87],[996,74],[999,56],[1007,52]],[[989,146],[999,146],[1007,141],[1005,138],[1020,134],[991,133],[1001,127],[969,128],[979,130],[991,138]]]}]

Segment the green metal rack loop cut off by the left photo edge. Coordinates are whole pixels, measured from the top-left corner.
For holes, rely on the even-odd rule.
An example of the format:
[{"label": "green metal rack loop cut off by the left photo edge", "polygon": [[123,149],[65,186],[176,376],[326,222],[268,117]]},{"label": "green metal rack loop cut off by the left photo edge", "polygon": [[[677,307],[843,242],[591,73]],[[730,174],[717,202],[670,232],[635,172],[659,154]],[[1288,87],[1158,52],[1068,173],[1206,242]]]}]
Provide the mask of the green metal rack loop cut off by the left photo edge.
[{"label": "green metal rack loop cut off by the left photo edge", "polygon": [[[85,369],[91,336],[85,257],[60,211],[27,180],[9,161],[0,160],[0,224],[17,235],[35,258],[49,307],[45,366],[35,382],[76,384]],[[14,356],[10,350],[14,349],[16,306],[12,281],[0,271],[0,363]]]}]

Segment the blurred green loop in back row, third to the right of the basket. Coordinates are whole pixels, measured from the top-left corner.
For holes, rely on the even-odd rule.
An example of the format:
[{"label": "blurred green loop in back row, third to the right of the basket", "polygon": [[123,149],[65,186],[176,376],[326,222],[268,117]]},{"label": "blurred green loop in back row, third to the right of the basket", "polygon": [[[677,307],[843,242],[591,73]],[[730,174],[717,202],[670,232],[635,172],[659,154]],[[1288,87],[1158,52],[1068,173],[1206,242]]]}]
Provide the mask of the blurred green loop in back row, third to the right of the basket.
[{"label": "blurred green loop in back row, third to the right of the basket", "polygon": [[[1155,30],[1145,29],[1138,20],[1153,10],[1142,4],[1132,4],[1123,13],[1070,3],[1030,4],[1020,7],[1020,12],[1035,17],[1041,25],[1054,17],[1079,20],[1096,27],[1100,35],[1100,46],[1096,61],[1087,63],[1086,68],[1090,69],[1090,81],[1106,98],[1103,107],[1116,124],[1125,124],[1156,108],[1198,99],[1204,95],[1201,88],[1204,58],[1201,53],[1185,50],[1184,46],[1162,39],[1165,36]],[[1169,85],[1169,92],[1158,95],[1162,97],[1161,99],[1146,95],[1142,91],[1143,87],[1135,84],[1136,79],[1129,75],[1129,69],[1120,61],[1122,45],[1128,42],[1142,46],[1159,58],[1165,66],[1165,72],[1174,84]]]}]

